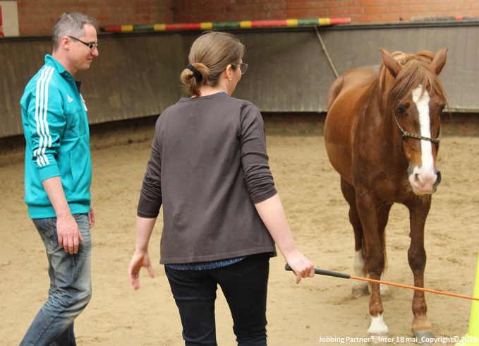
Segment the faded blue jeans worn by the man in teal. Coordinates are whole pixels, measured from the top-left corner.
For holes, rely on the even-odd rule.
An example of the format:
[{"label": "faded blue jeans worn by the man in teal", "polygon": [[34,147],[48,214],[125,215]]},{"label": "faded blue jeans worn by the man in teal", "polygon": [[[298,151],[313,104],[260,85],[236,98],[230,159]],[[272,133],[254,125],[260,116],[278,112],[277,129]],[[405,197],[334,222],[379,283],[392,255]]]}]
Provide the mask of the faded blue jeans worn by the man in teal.
[{"label": "faded blue jeans worn by the man in teal", "polygon": [[85,309],[92,296],[90,253],[92,240],[88,215],[73,215],[80,228],[83,241],[78,252],[71,255],[59,246],[56,217],[33,219],[47,249],[50,276],[49,298],[38,311],[25,337],[23,345],[76,345],[73,321]]}]

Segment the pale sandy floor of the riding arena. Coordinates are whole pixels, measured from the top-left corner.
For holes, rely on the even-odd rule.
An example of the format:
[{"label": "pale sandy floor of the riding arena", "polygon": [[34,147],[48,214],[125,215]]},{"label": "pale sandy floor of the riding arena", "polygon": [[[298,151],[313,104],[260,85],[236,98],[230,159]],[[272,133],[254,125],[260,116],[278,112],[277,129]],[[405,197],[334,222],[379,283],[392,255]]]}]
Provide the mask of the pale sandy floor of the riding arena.
[{"label": "pale sandy floor of the riding arena", "polygon": [[[299,249],[316,268],[353,273],[353,232],[348,207],[325,152],[320,117],[267,118],[270,166]],[[450,122],[450,121],[449,121]],[[143,272],[135,292],[126,271],[135,246],[135,210],[153,126],[123,131],[97,126],[92,131],[93,297],[75,321],[78,345],[182,345],[181,323],[164,269],[159,266],[161,222],[150,255],[156,278]],[[128,132],[127,132],[128,131]],[[445,124],[439,151],[442,183],[432,200],[426,224],[428,265],[425,287],[471,296],[479,250],[479,131],[474,124]],[[0,161],[0,345],[18,345],[47,298],[47,259],[23,203],[23,159],[12,153]],[[408,267],[408,214],[395,205],[387,228],[389,268],[384,280],[413,285]],[[365,345],[369,297],[351,298],[352,280],[316,275],[296,285],[284,270],[284,258],[271,261],[268,295],[269,345]],[[391,287],[384,299],[389,345],[406,342],[411,333],[412,290]],[[437,345],[468,331],[471,300],[426,294],[428,317]],[[219,290],[219,345],[236,345],[229,311]],[[478,331],[479,333],[479,331]],[[328,339],[329,338],[329,339]],[[322,340],[322,341],[321,341]],[[329,340],[329,341],[328,341]],[[444,341],[444,342],[443,342]]]}]

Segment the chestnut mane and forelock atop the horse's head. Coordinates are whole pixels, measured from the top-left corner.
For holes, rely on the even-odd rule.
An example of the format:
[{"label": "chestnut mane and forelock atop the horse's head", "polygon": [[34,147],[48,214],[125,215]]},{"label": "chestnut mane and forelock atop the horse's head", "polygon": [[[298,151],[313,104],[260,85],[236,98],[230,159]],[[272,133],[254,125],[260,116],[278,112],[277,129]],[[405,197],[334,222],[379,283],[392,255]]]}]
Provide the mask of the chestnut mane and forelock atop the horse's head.
[{"label": "chestnut mane and forelock atop the horse's head", "polygon": [[379,83],[382,95],[386,96],[382,100],[386,109],[393,107],[397,100],[404,98],[419,85],[423,86],[423,92],[428,90],[431,95],[437,94],[446,100],[439,78],[430,66],[434,59],[432,52],[425,50],[416,54],[394,52],[391,55],[403,68],[394,78],[384,63],[380,66]]}]

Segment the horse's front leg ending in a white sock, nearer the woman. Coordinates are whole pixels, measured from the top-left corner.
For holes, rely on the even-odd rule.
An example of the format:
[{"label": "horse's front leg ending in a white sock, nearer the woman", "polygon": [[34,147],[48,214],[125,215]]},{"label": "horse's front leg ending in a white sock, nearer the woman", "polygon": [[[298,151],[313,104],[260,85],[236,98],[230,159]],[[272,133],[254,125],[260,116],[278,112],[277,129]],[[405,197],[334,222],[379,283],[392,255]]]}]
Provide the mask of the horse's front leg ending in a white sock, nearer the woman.
[{"label": "horse's front leg ending in a white sock, nearer the woman", "polygon": [[[365,246],[365,266],[369,276],[373,280],[381,280],[381,274],[384,271],[384,242],[378,232],[377,205],[375,199],[368,193],[357,193],[356,205],[363,225],[364,246]],[[371,317],[369,335],[385,335],[389,331],[384,323],[384,308],[382,306],[380,284],[371,283],[371,297],[369,301],[369,314]]]}]

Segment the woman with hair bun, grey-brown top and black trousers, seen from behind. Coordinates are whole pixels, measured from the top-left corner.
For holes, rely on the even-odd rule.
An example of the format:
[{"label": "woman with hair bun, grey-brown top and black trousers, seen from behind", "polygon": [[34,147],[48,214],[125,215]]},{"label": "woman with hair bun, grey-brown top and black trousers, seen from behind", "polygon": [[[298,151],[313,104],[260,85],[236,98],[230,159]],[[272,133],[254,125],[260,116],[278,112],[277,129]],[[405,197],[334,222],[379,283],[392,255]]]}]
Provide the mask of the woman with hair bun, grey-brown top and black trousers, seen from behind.
[{"label": "woman with hair bun, grey-brown top and black trousers, seen from behind", "polygon": [[313,263],[296,249],[266,152],[265,125],[251,102],[231,97],[248,64],[227,32],[190,49],[182,97],[159,117],[137,211],[128,276],[154,276],[148,243],[163,206],[160,263],[181,316],[185,345],[217,345],[214,302],[224,292],[238,345],[267,345],[269,258],[276,246],[296,275]]}]

